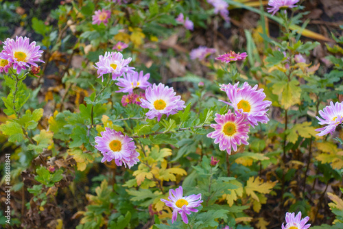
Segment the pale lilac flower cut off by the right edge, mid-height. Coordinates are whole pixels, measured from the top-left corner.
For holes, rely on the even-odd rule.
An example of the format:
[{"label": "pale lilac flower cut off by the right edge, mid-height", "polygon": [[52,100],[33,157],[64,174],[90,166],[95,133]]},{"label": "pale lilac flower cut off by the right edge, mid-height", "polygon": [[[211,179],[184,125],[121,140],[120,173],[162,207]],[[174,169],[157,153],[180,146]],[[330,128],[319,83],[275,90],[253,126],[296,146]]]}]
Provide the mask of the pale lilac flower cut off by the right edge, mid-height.
[{"label": "pale lilac flower cut off by the right edge, mid-height", "polygon": [[320,125],[326,125],[323,128],[316,129],[320,132],[318,136],[324,136],[326,134],[332,134],[336,127],[343,121],[343,102],[339,103],[330,102],[330,106],[326,106],[323,110],[319,111],[319,115],[322,117],[316,117],[319,120]]}]

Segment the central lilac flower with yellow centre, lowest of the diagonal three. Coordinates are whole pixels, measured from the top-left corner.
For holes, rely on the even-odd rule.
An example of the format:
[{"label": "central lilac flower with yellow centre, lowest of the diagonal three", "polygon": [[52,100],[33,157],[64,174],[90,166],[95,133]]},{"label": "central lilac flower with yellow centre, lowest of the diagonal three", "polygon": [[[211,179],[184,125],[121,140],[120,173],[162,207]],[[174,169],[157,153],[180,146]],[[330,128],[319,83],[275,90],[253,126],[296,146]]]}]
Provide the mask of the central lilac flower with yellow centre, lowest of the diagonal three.
[{"label": "central lilac flower with yellow centre, lowest of the diagonal three", "polygon": [[173,88],[165,86],[165,84],[154,84],[145,90],[146,99],[141,99],[141,107],[148,108],[148,119],[154,119],[157,117],[157,121],[160,121],[162,115],[174,115],[178,110],[185,108],[185,101],[181,100],[180,95],[176,96]]}]

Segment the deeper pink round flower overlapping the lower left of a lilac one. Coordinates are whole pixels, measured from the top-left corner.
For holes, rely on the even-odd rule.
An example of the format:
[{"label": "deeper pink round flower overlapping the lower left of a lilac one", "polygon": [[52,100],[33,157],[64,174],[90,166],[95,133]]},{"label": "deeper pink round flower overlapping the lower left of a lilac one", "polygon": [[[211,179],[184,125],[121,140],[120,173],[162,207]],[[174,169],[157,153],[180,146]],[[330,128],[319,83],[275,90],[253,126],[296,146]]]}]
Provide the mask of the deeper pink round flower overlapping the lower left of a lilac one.
[{"label": "deeper pink round flower overlapping the lower left of a lilac one", "polygon": [[230,110],[225,115],[215,114],[215,117],[217,124],[211,124],[215,131],[207,134],[207,137],[215,139],[214,143],[219,143],[220,150],[231,154],[231,148],[237,151],[237,145],[249,144],[246,141],[249,138],[249,122],[246,117],[236,117]]}]

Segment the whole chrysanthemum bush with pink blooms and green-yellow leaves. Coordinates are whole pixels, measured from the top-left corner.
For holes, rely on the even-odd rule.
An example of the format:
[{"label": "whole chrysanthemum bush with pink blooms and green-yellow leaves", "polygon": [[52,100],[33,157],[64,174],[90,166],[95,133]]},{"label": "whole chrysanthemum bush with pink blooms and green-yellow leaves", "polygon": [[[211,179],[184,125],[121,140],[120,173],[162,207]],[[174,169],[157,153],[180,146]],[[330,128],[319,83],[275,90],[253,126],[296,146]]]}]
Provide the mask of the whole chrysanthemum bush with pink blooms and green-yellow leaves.
[{"label": "whole chrysanthemum bush with pink blooms and green-yellow leaves", "polygon": [[[78,229],[342,228],[343,88],[335,85],[343,77],[342,52],[328,45],[335,54],[327,57],[329,73],[303,62],[320,44],[303,43],[301,27],[294,29],[304,14],[292,16],[301,10],[298,1],[270,1],[274,16],[246,6],[263,14],[262,25],[264,15],[282,22],[279,39],[263,29],[265,49],[252,50],[252,38],[250,48],[217,58],[215,49],[196,49],[192,61],[201,60],[215,80],[192,75],[187,93],[178,84],[187,77],[160,82],[156,69],[167,61],[154,55],[158,38],[173,26],[206,27],[213,7],[227,23],[232,2],[211,0],[202,9],[187,1],[73,1],[51,14],[58,29],[32,20],[44,53],[28,38],[6,40],[0,131],[8,138],[3,147],[14,150],[13,191],[25,202],[13,217],[28,228],[46,227],[43,216],[51,213],[51,225]],[[44,75],[49,62],[63,59],[60,51],[69,60],[83,56],[82,67],[61,65],[56,74],[64,85],[38,102],[40,86],[32,91],[23,80]],[[64,198],[72,201],[60,203]]]}]

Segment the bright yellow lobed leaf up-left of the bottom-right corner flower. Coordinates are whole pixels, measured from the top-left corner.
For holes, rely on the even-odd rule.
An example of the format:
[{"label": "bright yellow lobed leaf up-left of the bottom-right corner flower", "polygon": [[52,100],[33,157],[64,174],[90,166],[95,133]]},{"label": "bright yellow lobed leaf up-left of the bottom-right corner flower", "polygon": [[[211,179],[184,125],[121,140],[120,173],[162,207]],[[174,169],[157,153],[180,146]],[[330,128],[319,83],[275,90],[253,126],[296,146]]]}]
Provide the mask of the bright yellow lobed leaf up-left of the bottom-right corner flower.
[{"label": "bright yellow lobed leaf up-left of the bottom-right corner flower", "polygon": [[274,188],[275,182],[265,182],[263,183],[263,180],[257,177],[256,179],[254,177],[250,177],[249,180],[246,182],[246,194],[250,195],[253,199],[257,200],[259,202],[259,197],[257,197],[255,191],[259,193],[268,194],[270,191],[272,191],[272,188]]}]

